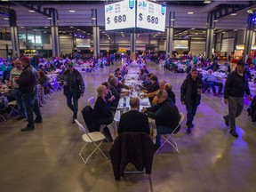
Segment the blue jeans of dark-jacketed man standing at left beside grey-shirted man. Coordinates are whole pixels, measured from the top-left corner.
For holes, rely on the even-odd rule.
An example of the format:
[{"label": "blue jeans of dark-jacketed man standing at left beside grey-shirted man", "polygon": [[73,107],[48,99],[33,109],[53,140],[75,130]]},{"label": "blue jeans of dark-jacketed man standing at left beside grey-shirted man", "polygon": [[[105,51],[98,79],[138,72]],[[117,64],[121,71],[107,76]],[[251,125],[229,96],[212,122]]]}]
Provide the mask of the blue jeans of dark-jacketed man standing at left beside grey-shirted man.
[{"label": "blue jeans of dark-jacketed man standing at left beside grey-shirted man", "polygon": [[24,105],[27,111],[27,116],[28,116],[27,128],[30,128],[30,129],[35,128],[33,111],[36,114],[36,119],[42,120],[41,111],[38,106],[36,94],[37,94],[36,87],[34,87],[33,92],[22,93],[22,100],[24,102]]}]

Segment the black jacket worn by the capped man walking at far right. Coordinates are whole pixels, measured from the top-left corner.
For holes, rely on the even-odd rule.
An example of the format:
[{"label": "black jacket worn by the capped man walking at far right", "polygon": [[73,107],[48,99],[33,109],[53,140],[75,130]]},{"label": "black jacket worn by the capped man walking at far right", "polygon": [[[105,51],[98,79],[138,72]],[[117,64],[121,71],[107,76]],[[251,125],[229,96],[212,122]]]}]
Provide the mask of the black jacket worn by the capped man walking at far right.
[{"label": "black jacket worn by the capped man walking at far right", "polygon": [[232,71],[228,75],[224,86],[224,99],[228,99],[228,96],[244,97],[244,92],[247,95],[251,95],[245,74],[244,76],[240,76],[236,70]]}]

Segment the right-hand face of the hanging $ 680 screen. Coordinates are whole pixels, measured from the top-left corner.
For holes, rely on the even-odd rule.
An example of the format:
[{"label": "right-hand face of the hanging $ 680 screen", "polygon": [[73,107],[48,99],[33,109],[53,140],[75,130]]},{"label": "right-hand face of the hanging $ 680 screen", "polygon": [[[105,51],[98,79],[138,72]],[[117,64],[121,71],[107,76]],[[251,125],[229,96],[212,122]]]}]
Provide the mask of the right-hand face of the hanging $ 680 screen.
[{"label": "right-hand face of the hanging $ 680 screen", "polygon": [[137,28],[164,31],[165,17],[165,5],[155,4],[147,0],[137,1]]}]

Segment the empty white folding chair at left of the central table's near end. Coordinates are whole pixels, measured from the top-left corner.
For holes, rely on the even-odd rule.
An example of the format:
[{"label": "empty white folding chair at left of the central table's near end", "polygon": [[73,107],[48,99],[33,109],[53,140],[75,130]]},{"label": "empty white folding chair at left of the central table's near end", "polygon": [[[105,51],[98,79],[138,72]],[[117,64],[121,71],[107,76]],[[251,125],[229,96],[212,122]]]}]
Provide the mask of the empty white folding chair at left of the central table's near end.
[{"label": "empty white folding chair at left of the central table's near end", "polygon": [[[92,154],[94,154],[94,152],[98,149],[100,150],[100,153],[102,154],[102,156],[104,156],[106,159],[108,159],[108,157],[102,152],[102,150],[100,149],[100,145],[102,143],[103,140],[106,139],[106,137],[101,133],[101,132],[88,132],[88,130],[82,125],[80,124],[77,119],[75,119],[76,124],[78,125],[79,129],[84,132],[84,134],[82,135],[82,139],[85,142],[85,145],[83,148],[81,148],[80,152],[79,152],[79,156],[82,158],[84,164],[87,163],[87,161],[89,160],[89,158],[92,156]],[[99,145],[96,144],[96,142],[100,142]],[[92,151],[92,153],[86,158],[86,160],[84,160],[84,157],[82,156],[82,151],[83,149],[88,145],[88,143],[92,143],[95,146],[95,149]]]}]

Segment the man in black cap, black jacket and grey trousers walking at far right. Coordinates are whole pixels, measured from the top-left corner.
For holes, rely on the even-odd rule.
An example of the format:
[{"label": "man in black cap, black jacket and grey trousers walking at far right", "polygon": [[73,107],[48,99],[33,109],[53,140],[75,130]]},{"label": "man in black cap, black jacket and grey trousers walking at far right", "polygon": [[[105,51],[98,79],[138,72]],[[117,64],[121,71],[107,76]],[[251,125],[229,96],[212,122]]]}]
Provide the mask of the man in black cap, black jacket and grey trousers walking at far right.
[{"label": "man in black cap, black jacket and grey trousers walking at far right", "polygon": [[244,60],[238,60],[236,69],[228,75],[224,86],[224,102],[228,104],[228,115],[223,116],[223,118],[227,126],[230,123],[229,133],[234,137],[238,137],[236,117],[241,115],[244,108],[244,92],[246,92],[248,99],[252,100],[244,69]]}]

